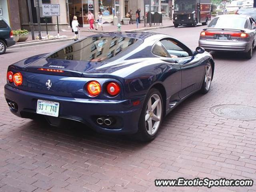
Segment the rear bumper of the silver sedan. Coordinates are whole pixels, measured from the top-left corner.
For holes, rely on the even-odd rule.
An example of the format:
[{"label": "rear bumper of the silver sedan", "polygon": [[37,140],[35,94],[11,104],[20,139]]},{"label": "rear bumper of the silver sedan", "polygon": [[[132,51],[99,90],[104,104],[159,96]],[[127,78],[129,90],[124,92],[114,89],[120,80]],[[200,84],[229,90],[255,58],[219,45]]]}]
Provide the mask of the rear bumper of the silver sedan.
[{"label": "rear bumper of the silver sedan", "polygon": [[212,51],[234,51],[234,52],[248,52],[251,48],[251,42],[224,42],[214,40],[202,40],[198,42],[199,46],[205,50]]}]

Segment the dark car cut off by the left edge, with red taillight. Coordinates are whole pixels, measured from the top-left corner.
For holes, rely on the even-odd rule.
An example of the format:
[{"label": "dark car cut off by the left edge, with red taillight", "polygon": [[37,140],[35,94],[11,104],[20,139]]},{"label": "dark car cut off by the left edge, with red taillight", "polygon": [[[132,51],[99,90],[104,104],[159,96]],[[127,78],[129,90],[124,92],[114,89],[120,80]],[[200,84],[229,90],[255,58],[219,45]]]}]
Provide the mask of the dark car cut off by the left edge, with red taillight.
[{"label": "dark car cut off by the left edge, with red taillight", "polygon": [[6,52],[6,47],[10,47],[15,44],[13,39],[13,33],[7,22],[0,17],[0,54]]}]

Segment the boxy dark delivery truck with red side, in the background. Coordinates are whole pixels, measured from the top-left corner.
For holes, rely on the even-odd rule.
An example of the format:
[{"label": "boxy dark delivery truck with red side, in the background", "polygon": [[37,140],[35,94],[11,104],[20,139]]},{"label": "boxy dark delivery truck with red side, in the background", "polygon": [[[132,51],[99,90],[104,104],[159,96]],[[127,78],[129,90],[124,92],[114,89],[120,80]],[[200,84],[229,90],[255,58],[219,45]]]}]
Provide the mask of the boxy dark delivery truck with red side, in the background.
[{"label": "boxy dark delivery truck with red side, in the background", "polygon": [[211,20],[211,0],[175,0],[174,27],[187,25],[196,27],[198,23],[207,25]]}]

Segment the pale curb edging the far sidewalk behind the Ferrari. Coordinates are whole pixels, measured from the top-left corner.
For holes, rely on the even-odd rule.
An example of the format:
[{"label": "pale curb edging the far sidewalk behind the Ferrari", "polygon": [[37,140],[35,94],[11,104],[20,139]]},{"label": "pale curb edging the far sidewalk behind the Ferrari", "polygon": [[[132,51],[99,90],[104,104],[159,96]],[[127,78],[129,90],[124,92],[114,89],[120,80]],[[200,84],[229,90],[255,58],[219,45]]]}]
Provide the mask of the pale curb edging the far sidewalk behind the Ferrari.
[{"label": "pale curb edging the far sidewalk behind the Ferrari", "polygon": [[[174,27],[174,25],[167,25],[167,26],[155,26],[155,27],[149,27],[149,28],[141,28],[141,29],[132,29],[132,30],[126,30],[126,31],[91,31],[91,30],[81,30],[81,32],[92,32],[92,33],[107,33],[107,32],[143,32],[143,31],[153,31],[153,30],[160,30],[163,28],[169,28]],[[21,47],[28,47],[33,45],[43,45],[43,44],[50,44],[50,43],[58,43],[58,42],[64,42],[73,40],[73,38],[64,38],[64,39],[47,39],[47,40],[36,40],[36,41],[30,41],[30,42],[21,42],[18,44],[15,44],[8,49],[13,48],[21,48]]]}]

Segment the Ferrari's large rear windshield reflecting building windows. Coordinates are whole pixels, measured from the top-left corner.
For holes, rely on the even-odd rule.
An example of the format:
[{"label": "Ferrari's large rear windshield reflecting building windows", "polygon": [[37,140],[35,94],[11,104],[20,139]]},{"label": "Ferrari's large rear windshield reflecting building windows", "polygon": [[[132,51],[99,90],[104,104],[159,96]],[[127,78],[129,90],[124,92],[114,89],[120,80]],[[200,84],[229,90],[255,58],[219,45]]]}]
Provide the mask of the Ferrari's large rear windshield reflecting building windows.
[{"label": "Ferrari's large rear windshield reflecting building windows", "polygon": [[128,37],[89,37],[54,52],[48,58],[103,62],[134,50],[141,42]]}]

